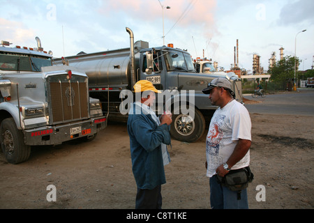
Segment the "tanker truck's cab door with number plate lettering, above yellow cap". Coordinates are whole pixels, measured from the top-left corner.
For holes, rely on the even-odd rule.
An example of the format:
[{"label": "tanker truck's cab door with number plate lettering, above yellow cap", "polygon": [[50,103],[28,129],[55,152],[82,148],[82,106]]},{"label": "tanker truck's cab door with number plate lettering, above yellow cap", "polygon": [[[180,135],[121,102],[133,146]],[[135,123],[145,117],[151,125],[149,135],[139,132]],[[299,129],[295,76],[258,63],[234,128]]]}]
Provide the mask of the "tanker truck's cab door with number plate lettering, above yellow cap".
[{"label": "tanker truck's cab door with number plate lettering, above yellow cap", "polygon": [[156,89],[165,90],[165,67],[163,66],[161,52],[156,50],[142,52],[141,58],[139,80],[147,79],[154,84]]}]

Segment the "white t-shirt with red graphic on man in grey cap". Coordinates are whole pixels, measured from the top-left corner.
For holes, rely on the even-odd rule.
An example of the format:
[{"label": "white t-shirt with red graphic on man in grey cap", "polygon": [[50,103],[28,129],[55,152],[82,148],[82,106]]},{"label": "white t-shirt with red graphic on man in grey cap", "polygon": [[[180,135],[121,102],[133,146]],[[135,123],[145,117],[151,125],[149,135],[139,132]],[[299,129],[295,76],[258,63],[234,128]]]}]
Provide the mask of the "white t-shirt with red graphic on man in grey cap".
[{"label": "white t-shirt with red graphic on man in grey cap", "polygon": [[[227,162],[239,139],[251,140],[251,118],[244,105],[232,100],[214,113],[206,139],[207,176],[216,174],[216,169]],[[231,169],[248,167],[250,151]]]}]

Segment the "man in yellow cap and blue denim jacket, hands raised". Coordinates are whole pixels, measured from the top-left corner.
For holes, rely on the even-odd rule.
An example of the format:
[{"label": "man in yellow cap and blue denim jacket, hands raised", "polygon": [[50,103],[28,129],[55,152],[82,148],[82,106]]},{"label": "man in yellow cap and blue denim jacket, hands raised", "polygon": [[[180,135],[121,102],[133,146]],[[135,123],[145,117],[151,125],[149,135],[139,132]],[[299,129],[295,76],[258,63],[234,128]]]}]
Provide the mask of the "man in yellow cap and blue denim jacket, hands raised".
[{"label": "man in yellow cap and blue denim jacket, hands raised", "polygon": [[[161,93],[147,80],[134,85],[140,100],[131,104],[128,134],[132,170],[137,184],[135,208],[160,209],[161,185],[165,183],[164,165],[170,162],[166,145],[170,145],[171,114],[158,118],[151,109],[155,93]],[[163,153],[164,152],[164,153]]]}]

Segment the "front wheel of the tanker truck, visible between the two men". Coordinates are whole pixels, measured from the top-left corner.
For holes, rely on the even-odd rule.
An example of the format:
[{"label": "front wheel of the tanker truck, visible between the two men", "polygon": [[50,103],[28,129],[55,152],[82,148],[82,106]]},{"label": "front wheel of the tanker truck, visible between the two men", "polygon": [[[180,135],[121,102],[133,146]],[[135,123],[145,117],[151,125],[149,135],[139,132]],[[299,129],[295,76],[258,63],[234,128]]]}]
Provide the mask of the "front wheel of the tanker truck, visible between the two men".
[{"label": "front wheel of the tanker truck, visible between the two men", "polygon": [[193,142],[202,137],[205,130],[205,119],[202,113],[195,109],[194,119],[188,114],[173,114],[170,134],[179,141]]}]

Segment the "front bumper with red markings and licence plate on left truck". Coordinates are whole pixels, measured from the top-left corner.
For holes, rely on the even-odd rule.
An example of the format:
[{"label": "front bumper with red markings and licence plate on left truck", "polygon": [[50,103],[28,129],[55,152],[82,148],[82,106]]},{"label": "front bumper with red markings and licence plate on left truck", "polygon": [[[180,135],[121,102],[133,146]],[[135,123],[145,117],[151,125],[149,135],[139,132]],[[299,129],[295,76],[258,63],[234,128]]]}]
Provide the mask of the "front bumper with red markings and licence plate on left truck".
[{"label": "front bumper with red markings and licence plate on left truck", "polygon": [[106,127],[107,118],[105,116],[55,126],[47,125],[24,130],[25,144],[29,146],[57,145],[71,139],[92,137]]}]

